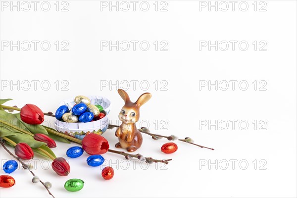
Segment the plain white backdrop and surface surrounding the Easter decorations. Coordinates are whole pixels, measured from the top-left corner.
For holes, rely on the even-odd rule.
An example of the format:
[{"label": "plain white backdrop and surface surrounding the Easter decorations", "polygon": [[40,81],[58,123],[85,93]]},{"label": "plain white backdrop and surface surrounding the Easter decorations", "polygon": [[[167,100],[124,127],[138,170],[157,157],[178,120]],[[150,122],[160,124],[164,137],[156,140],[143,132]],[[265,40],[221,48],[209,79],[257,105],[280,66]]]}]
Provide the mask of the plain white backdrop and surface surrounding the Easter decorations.
[{"label": "plain white backdrop and surface surrounding the Easter decorations", "polygon": [[[173,160],[164,167],[152,164],[145,169],[146,164],[141,166],[136,162],[133,167],[133,162],[127,163],[121,155],[106,153],[103,156],[108,164],[104,166],[111,165],[115,175],[112,180],[104,181],[100,175],[102,167],[89,167],[86,153],[76,159],[67,158],[67,148],[76,145],[57,142],[57,148],[52,150],[69,160],[69,176],[57,176],[51,168],[47,169],[49,162],[38,155],[34,170],[44,182],[52,183],[50,191],[55,197],[297,197],[295,0],[257,1],[256,11],[253,0],[246,1],[247,11],[241,10],[245,9],[245,4],[239,8],[241,1],[235,4],[234,11],[229,1],[226,1],[227,11],[222,11],[225,5],[219,4],[221,1],[217,1],[218,6],[221,5],[217,11],[214,7],[208,11],[208,6],[202,7],[203,2],[194,0],[166,0],[162,4],[159,1],[158,11],[155,11],[155,1],[148,1],[148,11],[140,9],[141,1],[136,4],[136,11],[130,1],[128,11],[121,8],[109,11],[109,7],[101,7],[100,11],[97,0],[68,0],[68,11],[60,10],[67,5],[62,1],[58,2],[59,11],[56,11],[56,0],[49,1],[49,11],[43,11],[40,1],[34,11],[34,4],[29,2],[32,6],[29,11],[22,8],[11,11],[10,5],[1,7],[0,98],[14,99],[6,105],[22,107],[33,103],[44,111],[54,112],[63,99],[101,95],[111,100],[108,117],[116,124],[123,101],[117,93],[119,87],[110,85],[118,81],[126,88],[124,80],[127,80],[130,82],[127,92],[132,100],[144,92],[152,94],[148,103],[141,107],[138,127],[145,120],[142,124],[149,123],[152,132],[191,137],[197,144],[215,148],[212,151],[177,142],[177,152],[166,155],[160,147],[167,140],[154,141],[144,135],[143,146],[136,153]],[[160,11],[166,3],[167,11]],[[259,11],[264,5],[266,11]],[[45,51],[39,43],[34,50],[31,43],[28,51],[24,50],[25,46],[20,46],[18,51],[17,47],[3,47],[3,41],[14,44],[48,41],[51,47]],[[64,46],[62,41],[68,42],[68,51],[57,51],[56,41],[60,47]],[[135,51],[132,43],[127,51],[122,50],[126,46],[118,51],[115,47],[100,50],[100,41],[113,44],[147,41],[150,46],[147,51],[140,49],[139,43]],[[157,51],[155,41],[159,44]],[[167,51],[160,50],[161,41],[167,42]],[[199,50],[199,41],[212,44],[227,41],[230,45],[226,51],[221,50],[225,46],[217,51],[215,47]],[[237,41],[234,50],[229,41]],[[241,41],[248,43],[247,50],[239,49]],[[257,41],[256,50],[254,41]],[[260,41],[267,44],[265,51],[260,50],[263,46]],[[32,82],[35,80],[39,81],[36,89]],[[132,80],[138,80],[135,89]],[[230,80],[237,81],[234,91]],[[255,80],[256,91],[252,84]],[[140,86],[142,81],[145,84]],[[221,87],[217,91],[214,86],[210,90],[208,86],[199,89],[199,84],[205,81],[217,81]],[[223,91],[225,81],[229,82],[229,88]],[[239,87],[240,81],[247,82],[246,91],[242,90],[245,84]],[[108,86],[102,87],[106,82]],[[260,91],[265,83],[266,91]],[[62,89],[64,85],[68,91]],[[46,119],[53,127],[54,119]],[[155,120],[158,126],[153,123]],[[165,122],[161,123],[162,120]],[[210,126],[209,130],[209,125],[201,125],[204,120],[211,123],[217,120],[221,124],[227,120],[229,127],[223,130],[225,125],[218,125],[216,130],[215,126]],[[234,130],[229,120],[237,120]],[[239,126],[242,120],[248,123],[246,130],[243,130],[244,124]],[[256,128],[254,120],[257,120]],[[161,128],[164,123],[168,124]],[[260,130],[265,123],[262,129],[267,130]],[[112,149],[117,143],[114,130],[103,134]],[[11,156],[3,148],[0,154],[2,175],[5,174],[2,165]],[[216,160],[217,168],[208,166]],[[230,160],[237,160],[234,167]],[[241,160],[244,162],[240,165]],[[229,166],[224,170],[226,161]],[[207,165],[202,166],[203,162]],[[127,164],[129,167],[124,170]],[[16,185],[1,188],[1,198],[50,197],[41,184],[31,183],[28,171],[20,169],[11,176]],[[84,180],[83,190],[67,192],[63,186],[71,178]]]}]

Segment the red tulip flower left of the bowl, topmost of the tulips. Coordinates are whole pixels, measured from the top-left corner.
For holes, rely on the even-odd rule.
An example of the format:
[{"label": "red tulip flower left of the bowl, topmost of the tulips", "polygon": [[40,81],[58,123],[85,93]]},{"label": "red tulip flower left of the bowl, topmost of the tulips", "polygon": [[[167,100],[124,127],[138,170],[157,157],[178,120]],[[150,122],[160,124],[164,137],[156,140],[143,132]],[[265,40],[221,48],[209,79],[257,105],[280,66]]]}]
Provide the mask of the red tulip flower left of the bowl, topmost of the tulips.
[{"label": "red tulip flower left of the bowl, topmost of the tulips", "polygon": [[27,124],[41,124],[45,120],[45,114],[34,104],[23,106],[20,115],[22,121]]}]

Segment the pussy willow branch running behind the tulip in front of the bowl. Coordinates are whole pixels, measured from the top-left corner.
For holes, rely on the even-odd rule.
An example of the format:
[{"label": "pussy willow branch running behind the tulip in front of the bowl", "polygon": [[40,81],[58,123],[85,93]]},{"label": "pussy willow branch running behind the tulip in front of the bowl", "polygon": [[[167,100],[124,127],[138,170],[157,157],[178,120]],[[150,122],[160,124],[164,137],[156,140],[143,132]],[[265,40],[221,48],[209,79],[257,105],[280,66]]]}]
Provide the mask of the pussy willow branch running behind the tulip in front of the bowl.
[{"label": "pussy willow branch running behind the tulip in front of the bowl", "polygon": [[[74,142],[74,143],[77,143],[77,144],[80,144],[80,145],[82,144],[82,141],[77,139],[77,138],[73,138],[71,136],[67,136],[65,134],[59,133],[59,132],[57,132],[57,131],[55,131],[53,129],[50,129],[49,127],[46,127],[46,126],[44,126],[44,127],[49,133],[52,133],[52,134],[55,134],[57,136],[66,138],[71,142]],[[140,156],[140,154],[130,154],[130,153],[126,153],[124,151],[118,151],[118,150],[112,150],[112,149],[108,149],[108,152],[113,152],[113,153],[116,153],[116,154],[124,155],[125,157],[126,156],[131,156],[131,157],[138,158]],[[152,162],[160,162],[160,163],[165,163],[165,164],[168,164],[168,161],[172,160],[172,159],[165,159],[165,160],[163,160],[163,159],[153,159],[151,157],[145,157],[145,158],[146,158],[147,162],[152,161]]]}]

